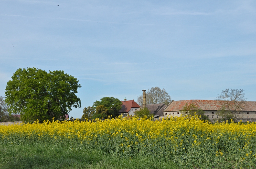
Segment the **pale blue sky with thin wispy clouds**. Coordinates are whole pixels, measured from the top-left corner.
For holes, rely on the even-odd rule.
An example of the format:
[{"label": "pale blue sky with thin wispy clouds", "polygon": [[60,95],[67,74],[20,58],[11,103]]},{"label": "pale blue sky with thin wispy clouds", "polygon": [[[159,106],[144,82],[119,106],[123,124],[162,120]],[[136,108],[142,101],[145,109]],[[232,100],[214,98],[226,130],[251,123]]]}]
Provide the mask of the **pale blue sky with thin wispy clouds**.
[{"label": "pale blue sky with thin wispy clouds", "polygon": [[173,100],[239,88],[256,101],[255,21],[255,1],[0,0],[0,95],[18,68],[36,67],[78,78],[72,117],[155,86]]}]

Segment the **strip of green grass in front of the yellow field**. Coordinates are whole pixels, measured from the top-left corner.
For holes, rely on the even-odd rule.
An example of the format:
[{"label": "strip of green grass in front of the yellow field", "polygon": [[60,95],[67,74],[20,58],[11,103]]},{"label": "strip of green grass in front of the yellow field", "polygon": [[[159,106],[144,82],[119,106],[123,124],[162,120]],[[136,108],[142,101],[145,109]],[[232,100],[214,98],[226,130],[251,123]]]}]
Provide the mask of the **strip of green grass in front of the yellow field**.
[{"label": "strip of green grass in front of the yellow field", "polygon": [[0,168],[179,168],[168,160],[151,156],[124,159],[79,145],[0,145]]}]

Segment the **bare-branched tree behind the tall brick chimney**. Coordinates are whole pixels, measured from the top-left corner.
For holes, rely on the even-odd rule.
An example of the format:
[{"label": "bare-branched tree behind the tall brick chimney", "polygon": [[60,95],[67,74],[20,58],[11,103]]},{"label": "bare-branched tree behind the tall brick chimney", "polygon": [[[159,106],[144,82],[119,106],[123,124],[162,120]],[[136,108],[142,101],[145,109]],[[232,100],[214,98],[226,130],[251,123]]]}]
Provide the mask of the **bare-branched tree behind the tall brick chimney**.
[{"label": "bare-branched tree behind the tall brick chimney", "polygon": [[[165,89],[160,89],[159,87],[152,87],[146,91],[146,104],[169,104],[171,101],[171,96],[165,91]],[[138,96],[136,103],[140,106],[143,104],[143,93]]]}]

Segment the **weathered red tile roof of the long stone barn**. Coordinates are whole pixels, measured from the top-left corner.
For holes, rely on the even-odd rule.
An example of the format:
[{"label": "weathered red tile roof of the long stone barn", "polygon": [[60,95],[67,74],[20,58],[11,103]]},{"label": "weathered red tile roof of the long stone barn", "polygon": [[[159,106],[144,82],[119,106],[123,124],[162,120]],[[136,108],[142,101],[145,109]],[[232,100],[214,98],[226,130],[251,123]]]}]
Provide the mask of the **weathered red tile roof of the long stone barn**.
[{"label": "weathered red tile roof of the long stone barn", "polygon": [[[173,101],[164,111],[180,111],[187,104],[195,104],[202,110],[220,110],[223,101],[218,100],[179,100]],[[256,102],[246,101],[243,111],[256,111]]]}]

